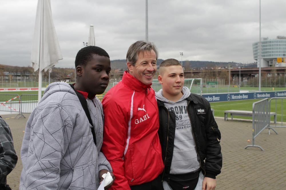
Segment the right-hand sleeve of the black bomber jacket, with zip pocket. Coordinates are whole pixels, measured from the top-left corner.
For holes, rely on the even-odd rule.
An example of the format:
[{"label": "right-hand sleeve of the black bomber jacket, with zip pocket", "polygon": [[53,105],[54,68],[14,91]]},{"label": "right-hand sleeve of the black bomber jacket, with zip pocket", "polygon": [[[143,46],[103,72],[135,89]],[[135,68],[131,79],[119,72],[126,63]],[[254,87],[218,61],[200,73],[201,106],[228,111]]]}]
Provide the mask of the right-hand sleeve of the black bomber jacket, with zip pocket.
[{"label": "right-hand sleeve of the black bomber jacket, with zip pocket", "polygon": [[221,173],[223,164],[223,155],[221,153],[221,132],[217,126],[214,116],[212,115],[210,104],[206,102],[208,112],[206,119],[206,175],[205,177],[216,178]]}]

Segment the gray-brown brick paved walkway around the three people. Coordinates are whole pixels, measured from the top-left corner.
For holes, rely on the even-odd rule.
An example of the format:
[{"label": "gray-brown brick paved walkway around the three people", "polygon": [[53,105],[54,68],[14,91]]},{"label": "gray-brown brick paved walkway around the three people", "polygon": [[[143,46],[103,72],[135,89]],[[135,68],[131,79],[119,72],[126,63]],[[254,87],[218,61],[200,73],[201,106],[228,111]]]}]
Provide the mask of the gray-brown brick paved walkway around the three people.
[{"label": "gray-brown brick paved walkway around the three people", "polygon": [[[8,175],[7,183],[19,189],[19,177],[22,170],[20,149],[22,145],[26,119],[13,119],[15,115],[3,115],[9,124],[15,150],[19,156],[15,169]],[[6,119],[7,118],[7,119]],[[9,118],[9,119],[8,119]],[[244,149],[252,142],[252,123],[249,121],[224,121],[216,118],[221,131],[223,153],[222,173],[217,177],[216,189],[286,189],[286,129],[275,128],[279,133],[264,130],[256,139],[256,147]]]}]

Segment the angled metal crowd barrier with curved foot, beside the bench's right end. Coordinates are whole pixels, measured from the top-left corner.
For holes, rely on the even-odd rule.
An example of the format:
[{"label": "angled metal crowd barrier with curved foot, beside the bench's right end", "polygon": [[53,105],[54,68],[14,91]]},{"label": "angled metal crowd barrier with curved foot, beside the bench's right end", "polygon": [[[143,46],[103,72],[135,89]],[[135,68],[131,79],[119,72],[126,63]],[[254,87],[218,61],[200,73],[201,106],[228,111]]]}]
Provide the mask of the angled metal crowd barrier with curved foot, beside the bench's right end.
[{"label": "angled metal crowd barrier with curved foot, beside the bench's right end", "polygon": [[252,145],[247,145],[247,147],[258,147],[264,150],[261,146],[255,145],[255,138],[265,129],[269,128],[270,123],[270,110],[268,98],[254,102],[252,104]]}]

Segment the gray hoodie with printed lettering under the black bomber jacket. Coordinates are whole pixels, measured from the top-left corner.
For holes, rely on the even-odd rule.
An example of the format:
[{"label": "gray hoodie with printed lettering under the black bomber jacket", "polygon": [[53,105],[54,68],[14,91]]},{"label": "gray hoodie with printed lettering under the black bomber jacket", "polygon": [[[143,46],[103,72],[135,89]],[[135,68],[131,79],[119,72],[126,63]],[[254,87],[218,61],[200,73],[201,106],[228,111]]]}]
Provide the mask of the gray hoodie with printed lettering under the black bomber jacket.
[{"label": "gray hoodie with printed lettering under the black bomber jacket", "polygon": [[190,96],[190,91],[184,86],[182,93],[183,96],[177,102],[166,99],[163,96],[162,89],[156,93],[156,99],[164,102],[165,107],[176,114],[176,130],[170,174],[184,174],[200,169],[192,126],[187,112],[188,101],[186,98]]}]

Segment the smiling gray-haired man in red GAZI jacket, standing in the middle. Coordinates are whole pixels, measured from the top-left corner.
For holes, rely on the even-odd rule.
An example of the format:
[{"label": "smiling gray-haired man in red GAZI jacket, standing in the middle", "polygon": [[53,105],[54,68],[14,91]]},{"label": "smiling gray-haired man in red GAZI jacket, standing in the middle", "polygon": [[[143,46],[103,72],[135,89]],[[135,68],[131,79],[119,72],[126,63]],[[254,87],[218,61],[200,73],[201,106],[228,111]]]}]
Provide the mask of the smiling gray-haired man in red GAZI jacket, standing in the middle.
[{"label": "smiling gray-haired man in red GAZI jacket, standing in the middle", "polygon": [[128,71],[102,101],[105,122],[102,151],[116,179],[111,189],[161,190],[164,169],[155,92],[151,88],[158,52],[137,41],[127,52]]}]

